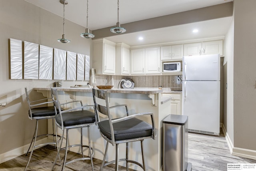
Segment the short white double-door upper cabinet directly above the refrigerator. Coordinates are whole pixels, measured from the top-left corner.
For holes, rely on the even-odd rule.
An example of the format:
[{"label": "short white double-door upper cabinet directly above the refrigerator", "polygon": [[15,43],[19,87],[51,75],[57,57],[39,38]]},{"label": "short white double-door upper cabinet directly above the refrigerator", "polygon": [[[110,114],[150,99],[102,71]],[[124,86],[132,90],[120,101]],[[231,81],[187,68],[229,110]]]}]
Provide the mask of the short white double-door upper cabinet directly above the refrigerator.
[{"label": "short white double-door upper cabinet directly above the refrigerator", "polygon": [[220,54],[223,56],[223,40],[184,44],[184,56]]}]

